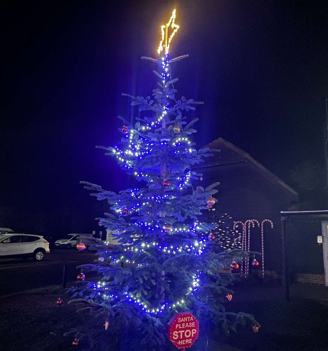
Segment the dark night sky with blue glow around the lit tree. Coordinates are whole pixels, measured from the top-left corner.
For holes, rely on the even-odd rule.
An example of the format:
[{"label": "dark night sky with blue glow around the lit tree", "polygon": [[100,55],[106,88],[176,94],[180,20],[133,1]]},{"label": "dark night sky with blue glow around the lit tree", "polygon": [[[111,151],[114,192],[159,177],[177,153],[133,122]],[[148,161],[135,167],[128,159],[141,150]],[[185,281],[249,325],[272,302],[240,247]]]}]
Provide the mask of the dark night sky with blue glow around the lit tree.
[{"label": "dark night sky with blue glow around the lit tree", "polygon": [[101,204],[79,184],[132,184],[95,145],[114,146],[122,92],[150,95],[159,26],[177,9],[178,97],[205,102],[197,146],[223,137],[291,184],[323,159],[327,1],[14,2],[2,10],[0,226],[90,232]]}]

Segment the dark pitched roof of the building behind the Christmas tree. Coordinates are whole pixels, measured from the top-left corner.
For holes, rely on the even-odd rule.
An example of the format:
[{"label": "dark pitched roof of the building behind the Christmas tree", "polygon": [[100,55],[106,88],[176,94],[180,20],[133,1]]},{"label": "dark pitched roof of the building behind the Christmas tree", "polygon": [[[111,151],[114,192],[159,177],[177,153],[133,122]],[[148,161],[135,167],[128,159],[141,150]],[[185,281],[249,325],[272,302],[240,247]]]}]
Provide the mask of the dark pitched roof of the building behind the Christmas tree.
[{"label": "dark pitched roof of the building behind the Christmas tree", "polygon": [[211,149],[219,149],[223,151],[224,149],[228,149],[230,152],[225,154],[216,153],[214,156],[208,158],[208,162],[202,165],[198,165],[195,168],[204,168],[204,167],[213,167],[213,166],[223,166],[223,165],[231,165],[237,163],[247,163],[250,167],[254,168],[257,172],[261,173],[264,177],[266,177],[273,184],[277,184],[282,188],[283,191],[292,193],[294,195],[298,195],[297,191],[292,187],[287,185],[280,178],[275,176],[272,172],[270,172],[267,168],[257,162],[253,157],[251,157],[247,152],[241,150],[239,147],[229,143],[229,141],[218,138],[212,143],[206,145],[205,147],[209,147]]}]

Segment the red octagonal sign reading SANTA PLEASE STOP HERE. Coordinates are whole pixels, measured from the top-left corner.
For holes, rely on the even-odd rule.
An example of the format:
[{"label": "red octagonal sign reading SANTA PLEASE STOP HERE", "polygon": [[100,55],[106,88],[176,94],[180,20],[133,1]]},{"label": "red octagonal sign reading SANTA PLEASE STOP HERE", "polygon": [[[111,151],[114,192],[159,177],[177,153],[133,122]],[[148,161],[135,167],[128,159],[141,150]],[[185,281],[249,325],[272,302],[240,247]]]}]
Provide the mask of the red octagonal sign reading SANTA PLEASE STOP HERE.
[{"label": "red octagonal sign reading SANTA PLEASE STOP HERE", "polygon": [[179,312],[168,322],[167,333],[178,349],[187,349],[199,336],[199,322],[190,312]]}]

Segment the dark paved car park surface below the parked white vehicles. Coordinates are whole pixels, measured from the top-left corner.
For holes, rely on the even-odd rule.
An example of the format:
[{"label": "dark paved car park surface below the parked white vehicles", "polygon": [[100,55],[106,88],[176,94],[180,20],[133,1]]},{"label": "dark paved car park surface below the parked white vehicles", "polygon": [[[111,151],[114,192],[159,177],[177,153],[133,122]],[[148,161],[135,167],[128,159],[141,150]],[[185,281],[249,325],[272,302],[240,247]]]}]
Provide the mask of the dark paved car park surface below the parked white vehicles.
[{"label": "dark paved car park surface below the parked white vehicles", "polygon": [[0,296],[61,284],[64,264],[68,266],[67,281],[74,281],[78,273],[76,266],[92,263],[94,259],[93,252],[76,249],[52,249],[41,262],[32,259],[0,259]]}]

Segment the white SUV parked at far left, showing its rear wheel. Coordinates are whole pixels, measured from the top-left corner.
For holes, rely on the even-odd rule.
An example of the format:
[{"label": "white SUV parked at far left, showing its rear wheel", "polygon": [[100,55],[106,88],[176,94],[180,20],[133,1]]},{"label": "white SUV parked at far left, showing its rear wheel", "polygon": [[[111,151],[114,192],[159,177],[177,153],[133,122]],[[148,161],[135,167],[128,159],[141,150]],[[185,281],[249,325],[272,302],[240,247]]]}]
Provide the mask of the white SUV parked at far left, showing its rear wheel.
[{"label": "white SUV parked at far left, showing its rear wheel", "polygon": [[40,235],[14,233],[0,235],[0,258],[25,256],[41,261],[49,252],[48,241]]}]

